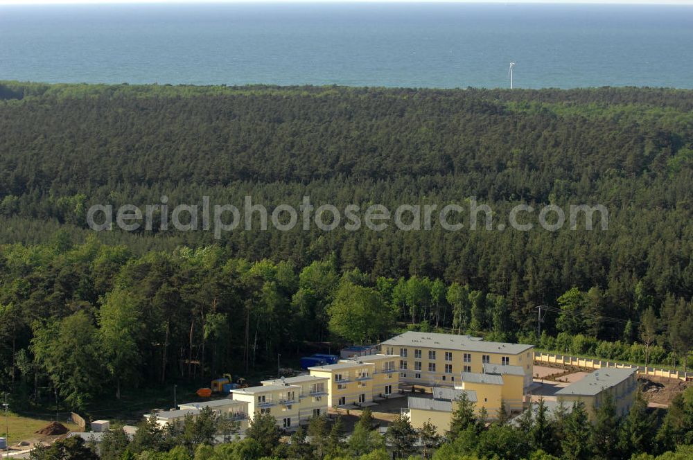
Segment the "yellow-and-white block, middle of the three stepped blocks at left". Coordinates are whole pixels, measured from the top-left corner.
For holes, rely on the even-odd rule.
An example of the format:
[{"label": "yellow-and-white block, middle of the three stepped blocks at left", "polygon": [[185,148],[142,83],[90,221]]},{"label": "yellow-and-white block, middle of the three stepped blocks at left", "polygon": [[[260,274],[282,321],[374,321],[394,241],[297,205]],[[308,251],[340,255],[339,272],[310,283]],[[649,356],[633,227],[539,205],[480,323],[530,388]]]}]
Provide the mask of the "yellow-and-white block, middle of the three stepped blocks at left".
[{"label": "yellow-and-white block, middle of the three stepped blocks at left", "polygon": [[[316,388],[319,389],[319,387]],[[251,421],[256,414],[272,414],[279,427],[295,430],[301,421],[327,412],[327,401],[323,393],[317,391],[316,394],[310,394],[309,391],[306,394],[303,391],[303,385],[285,381],[278,384],[267,383],[260,387],[235,389],[232,398],[248,403],[248,415]]]}]

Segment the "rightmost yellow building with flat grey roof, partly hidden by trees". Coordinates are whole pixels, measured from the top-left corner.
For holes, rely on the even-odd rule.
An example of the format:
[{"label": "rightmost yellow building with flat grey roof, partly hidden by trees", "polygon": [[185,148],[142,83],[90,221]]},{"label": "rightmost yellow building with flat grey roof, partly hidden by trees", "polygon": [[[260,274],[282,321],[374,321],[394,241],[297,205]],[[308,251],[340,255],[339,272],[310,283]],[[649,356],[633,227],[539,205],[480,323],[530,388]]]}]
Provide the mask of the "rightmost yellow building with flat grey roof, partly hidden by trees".
[{"label": "rightmost yellow building with flat grey roof, partly hidden by trees", "polygon": [[556,397],[566,405],[574,401],[582,401],[591,421],[602,404],[606,393],[610,393],[616,405],[616,415],[626,416],[633,405],[633,396],[638,389],[636,373],[638,369],[602,367],[586,375],[581,380],[571,383],[568,387],[556,391]]}]

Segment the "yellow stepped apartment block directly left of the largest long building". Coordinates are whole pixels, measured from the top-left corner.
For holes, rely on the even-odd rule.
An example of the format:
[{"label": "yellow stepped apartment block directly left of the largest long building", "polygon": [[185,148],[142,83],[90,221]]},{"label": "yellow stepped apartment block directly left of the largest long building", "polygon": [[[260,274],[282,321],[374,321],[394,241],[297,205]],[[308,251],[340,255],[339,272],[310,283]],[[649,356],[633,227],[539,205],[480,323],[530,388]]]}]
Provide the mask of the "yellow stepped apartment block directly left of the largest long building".
[{"label": "yellow stepped apartment block directly left of the largest long building", "polygon": [[395,355],[358,356],[336,364],[309,367],[310,375],[327,378],[328,407],[371,405],[396,393],[399,376]]}]

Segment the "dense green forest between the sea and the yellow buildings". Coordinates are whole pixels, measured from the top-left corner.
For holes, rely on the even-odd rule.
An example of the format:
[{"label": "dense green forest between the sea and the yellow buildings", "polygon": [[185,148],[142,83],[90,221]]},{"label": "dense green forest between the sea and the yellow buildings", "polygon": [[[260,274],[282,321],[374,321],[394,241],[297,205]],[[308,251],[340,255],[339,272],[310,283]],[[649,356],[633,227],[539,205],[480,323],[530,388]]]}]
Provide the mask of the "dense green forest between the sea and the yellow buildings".
[{"label": "dense green forest between the sea and the yellow buildings", "polygon": [[[691,184],[693,91],[3,82],[0,390],[28,400],[49,386],[84,407],[407,327],[681,368],[693,342]],[[602,204],[609,222],[270,227],[219,240],[87,227],[93,204],[163,195],[171,207],[308,195],[340,209],[476,197],[498,215]],[[556,312],[537,337],[540,305]]]}]

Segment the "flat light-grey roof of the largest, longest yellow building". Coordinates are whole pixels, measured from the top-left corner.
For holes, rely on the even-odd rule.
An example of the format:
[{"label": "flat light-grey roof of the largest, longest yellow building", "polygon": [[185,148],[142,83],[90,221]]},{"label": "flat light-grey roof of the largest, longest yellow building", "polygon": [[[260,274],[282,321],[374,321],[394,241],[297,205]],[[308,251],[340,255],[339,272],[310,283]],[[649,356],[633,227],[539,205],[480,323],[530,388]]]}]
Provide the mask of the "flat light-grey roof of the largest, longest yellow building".
[{"label": "flat light-grey roof of the largest, longest yellow building", "polygon": [[381,345],[420,346],[422,348],[442,348],[445,350],[477,351],[480,353],[507,355],[517,355],[530,348],[534,348],[534,345],[484,342],[481,337],[472,337],[471,335],[419,333],[413,330],[385,340]]}]

